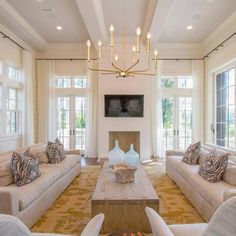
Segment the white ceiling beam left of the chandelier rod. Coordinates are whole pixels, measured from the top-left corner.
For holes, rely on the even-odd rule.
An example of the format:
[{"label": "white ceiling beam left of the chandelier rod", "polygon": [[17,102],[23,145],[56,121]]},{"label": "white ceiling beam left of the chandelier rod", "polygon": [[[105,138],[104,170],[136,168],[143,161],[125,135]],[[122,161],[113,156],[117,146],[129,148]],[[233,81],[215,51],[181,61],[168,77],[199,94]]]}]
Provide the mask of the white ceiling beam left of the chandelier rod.
[{"label": "white ceiling beam left of the chandelier rod", "polygon": [[107,30],[101,0],[76,0],[90,39],[97,46],[98,40],[106,42]]}]

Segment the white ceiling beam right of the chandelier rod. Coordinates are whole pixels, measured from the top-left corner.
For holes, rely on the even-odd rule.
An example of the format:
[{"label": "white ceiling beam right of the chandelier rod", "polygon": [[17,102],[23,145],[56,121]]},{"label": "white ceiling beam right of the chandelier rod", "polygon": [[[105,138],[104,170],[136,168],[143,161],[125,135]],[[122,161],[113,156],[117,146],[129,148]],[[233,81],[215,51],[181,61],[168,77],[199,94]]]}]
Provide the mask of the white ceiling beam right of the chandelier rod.
[{"label": "white ceiling beam right of the chandelier rod", "polygon": [[143,40],[151,33],[152,43],[160,38],[175,0],[150,0],[143,26]]}]

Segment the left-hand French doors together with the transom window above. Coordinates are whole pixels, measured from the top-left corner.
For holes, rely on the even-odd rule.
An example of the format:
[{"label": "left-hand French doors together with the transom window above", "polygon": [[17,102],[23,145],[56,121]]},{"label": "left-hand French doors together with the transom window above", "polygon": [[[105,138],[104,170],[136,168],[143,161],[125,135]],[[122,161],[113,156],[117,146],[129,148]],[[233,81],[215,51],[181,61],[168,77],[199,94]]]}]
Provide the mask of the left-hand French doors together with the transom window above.
[{"label": "left-hand French doors together with the transom window above", "polygon": [[86,91],[83,76],[56,78],[57,136],[66,149],[85,150]]}]

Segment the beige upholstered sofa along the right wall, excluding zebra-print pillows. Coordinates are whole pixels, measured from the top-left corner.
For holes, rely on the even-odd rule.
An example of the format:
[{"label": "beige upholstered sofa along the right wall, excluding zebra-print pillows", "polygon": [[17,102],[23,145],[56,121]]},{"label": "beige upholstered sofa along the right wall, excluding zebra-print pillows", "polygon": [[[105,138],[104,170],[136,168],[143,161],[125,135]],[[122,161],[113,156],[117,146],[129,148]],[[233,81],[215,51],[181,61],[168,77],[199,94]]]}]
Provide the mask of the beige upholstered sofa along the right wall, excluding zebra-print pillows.
[{"label": "beige upholstered sofa along the right wall, excluding zebra-print pillows", "polygon": [[[199,160],[201,161],[202,158],[201,153],[213,149],[229,152],[231,154],[229,159],[235,160],[236,151],[215,145],[202,145]],[[223,203],[224,198],[231,194],[229,190],[236,189],[236,186],[226,182],[224,176],[218,183],[207,182],[198,174],[199,164],[188,165],[181,161],[183,154],[184,151],[166,151],[166,173],[179,186],[200,215],[206,221],[209,221],[216,209]],[[235,178],[235,176],[232,176],[232,178]]]}]

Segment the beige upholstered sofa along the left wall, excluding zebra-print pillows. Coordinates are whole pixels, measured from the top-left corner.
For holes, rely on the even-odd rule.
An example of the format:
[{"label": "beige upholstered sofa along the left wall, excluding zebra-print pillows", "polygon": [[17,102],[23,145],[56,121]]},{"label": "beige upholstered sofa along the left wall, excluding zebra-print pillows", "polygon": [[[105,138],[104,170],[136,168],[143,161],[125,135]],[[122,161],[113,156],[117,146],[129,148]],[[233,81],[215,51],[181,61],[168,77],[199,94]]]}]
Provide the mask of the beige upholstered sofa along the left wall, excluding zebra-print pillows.
[{"label": "beige upholstered sofa along the left wall, excluding zebra-print pillows", "polygon": [[[23,152],[26,149],[21,148],[15,151]],[[45,151],[46,145],[36,144],[30,149]],[[11,155],[12,151],[0,154],[0,172],[2,172],[0,176],[6,177],[7,182],[12,177],[4,177],[3,173],[9,174]],[[78,150],[70,151],[69,154],[66,153],[66,158],[58,164],[40,164],[41,176],[29,184],[18,187],[11,181],[11,184],[7,186],[1,183],[0,214],[16,216],[28,227],[32,226],[80,174],[80,170],[81,161]]]}]

